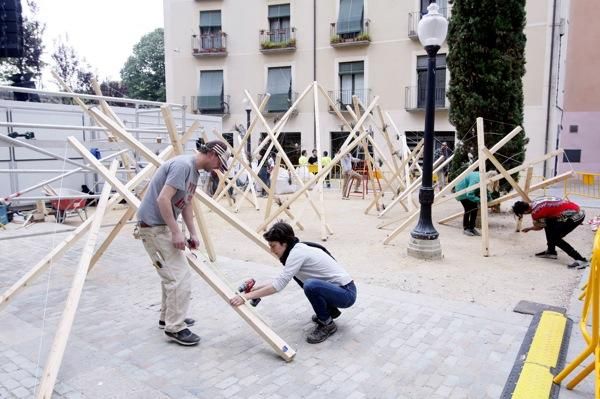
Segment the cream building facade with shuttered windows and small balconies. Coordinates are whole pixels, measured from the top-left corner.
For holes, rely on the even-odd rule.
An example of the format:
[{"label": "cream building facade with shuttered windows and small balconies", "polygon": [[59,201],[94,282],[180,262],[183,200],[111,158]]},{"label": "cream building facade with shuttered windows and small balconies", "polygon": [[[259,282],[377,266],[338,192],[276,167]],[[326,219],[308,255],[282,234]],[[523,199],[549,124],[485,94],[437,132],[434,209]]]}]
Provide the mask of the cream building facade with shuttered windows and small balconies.
[{"label": "cream building facade with shuttered windows and small balconies", "polygon": [[[549,76],[553,72],[552,35],[556,1],[527,2],[527,74],[524,78],[527,158],[542,155],[556,141],[548,129]],[[165,0],[165,63],[168,101],[194,112],[223,116],[223,129],[246,125],[244,90],[258,103],[271,98],[264,112],[273,124],[311,82],[318,81],[345,110],[352,95],[379,104],[393,118],[408,144],[424,128],[426,53],[417,24],[428,0]],[[440,12],[452,6],[439,0]],[[452,146],[445,96],[449,75],[447,46],[437,57],[436,146]],[[323,150],[335,153],[347,137],[329,105],[320,100],[320,131],[315,131],[312,99],[305,99],[287,122],[283,144],[292,160],[309,153],[319,135]],[[344,115],[349,117],[348,113]],[[368,127],[368,125],[367,125]],[[549,134],[547,132],[550,130]],[[255,130],[257,145],[264,128]],[[383,138],[377,137],[382,140]],[[551,147],[551,146],[550,146]],[[549,168],[546,173],[552,173]],[[536,174],[543,171],[537,170]]]}]

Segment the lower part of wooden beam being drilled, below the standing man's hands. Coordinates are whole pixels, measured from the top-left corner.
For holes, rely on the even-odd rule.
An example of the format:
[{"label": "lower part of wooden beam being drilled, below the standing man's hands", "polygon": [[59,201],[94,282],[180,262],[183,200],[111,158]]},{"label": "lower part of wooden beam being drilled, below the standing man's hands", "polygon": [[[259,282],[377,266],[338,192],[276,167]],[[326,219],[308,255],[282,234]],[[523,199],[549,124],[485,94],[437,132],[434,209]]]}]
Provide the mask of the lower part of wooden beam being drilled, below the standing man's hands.
[{"label": "lower part of wooden beam being drilled, below the standing man's hands", "polygon": [[[226,302],[229,298],[236,295],[227,284],[225,284],[212,268],[199,261],[194,254],[186,250],[186,258],[190,267],[198,273],[204,281]],[[256,313],[251,309],[250,304],[245,303],[241,306],[232,307],[250,327],[254,329],[264,339],[275,352],[285,361],[291,361],[296,355],[296,351],[281,339]]]}]

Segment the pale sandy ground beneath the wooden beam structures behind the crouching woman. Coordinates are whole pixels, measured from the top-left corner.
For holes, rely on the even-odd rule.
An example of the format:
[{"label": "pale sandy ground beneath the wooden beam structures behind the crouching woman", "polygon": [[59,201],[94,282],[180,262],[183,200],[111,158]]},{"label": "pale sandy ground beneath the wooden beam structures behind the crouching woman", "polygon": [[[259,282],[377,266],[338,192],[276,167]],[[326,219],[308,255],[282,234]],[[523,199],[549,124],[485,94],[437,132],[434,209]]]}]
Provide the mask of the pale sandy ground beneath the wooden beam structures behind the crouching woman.
[{"label": "pale sandy ground beneath the wooden beam structures behind the crouching woman", "polygon": [[[313,198],[318,199],[318,196],[313,195]],[[260,211],[245,203],[235,214],[252,229],[256,229],[264,218],[266,199],[259,201]],[[386,204],[390,201],[389,195],[384,198]],[[301,240],[322,242],[347,267],[358,285],[368,283],[510,311],[521,300],[567,306],[581,278],[582,271],[566,267],[571,259],[560,250],[558,260],[533,256],[535,252],[545,249],[544,233],[516,233],[516,220],[508,213],[512,201],[503,204],[501,213],[490,214],[489,257],[481,254],[481,238],[462,234],[461,219],[447,225],[436,223],[443,250],[443,259],[438,261],[418,260],[407,255],[410,229],[400,233],[390,245],[384,245],[384,239],[400,222],[385,229],[377,229],[376,226],[384,220],[394,220],[408,214],[396,206],[384,219],[379,219],[374,209],[365,215],[369,202],[369,197],[364,200],[353,197],[349,201],[342,201],[339,190],[326,190],[326,219],[334,234],[324,243],[320,239],[319,221],[307,201],[300,199],[292,206],[292,212],[305,227],[304,231],[296,231]],[[221,203],[228,208],[226,201]],[[434,221],[460,210],[460,203],[450,200],[434,207]],[[107,216],[107,222],[116,220],[121,213],[122,210],[113,209]],[[597,209],[588,209],[586,219],[598,213]],[[278,273],[280,265],[276,259],[224,223],[215,213],[207,212],[206,218],[219,256],[270,264],[274,266],[273,276]],[[27,229],[10,224],[8,231],[0,231],[0,239],[48,231],[47,224],[52,221],[53,217],[50,216],[46,226],[34,225]],[[57,225],[56,228],[64,229],[78,223],[77,217],[71,217],[65,225]],[[526,216],[524,226],[530,223],[530,218]],[[130,234],[132,228],[131,225],[127,226],[121,234]],[[50,239],[49,236],[41,237]],[[572,232],[567,241],[587,257],[591,252],[592,238],[590,226],[584,224]],[[252,276],[252,270],[248,270],[248,275]]]}]

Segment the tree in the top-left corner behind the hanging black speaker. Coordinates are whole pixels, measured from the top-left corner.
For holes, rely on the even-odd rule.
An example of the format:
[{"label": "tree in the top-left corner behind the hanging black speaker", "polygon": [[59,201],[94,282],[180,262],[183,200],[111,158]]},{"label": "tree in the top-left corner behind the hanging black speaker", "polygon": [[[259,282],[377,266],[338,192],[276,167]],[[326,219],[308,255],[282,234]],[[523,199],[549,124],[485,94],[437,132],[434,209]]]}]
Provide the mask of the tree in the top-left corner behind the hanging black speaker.
[{"label": "tree in the top-left corner behind the hanging black speaker", "polygon": [[44,51],[42,36],[46,25],[37,20],[38,5],[35,0],[27,0],[27,6],[29,15],[23,13],[24,55],[0,61],[0,79],[4,82],[39,79],[44,67],[40,57]]}]

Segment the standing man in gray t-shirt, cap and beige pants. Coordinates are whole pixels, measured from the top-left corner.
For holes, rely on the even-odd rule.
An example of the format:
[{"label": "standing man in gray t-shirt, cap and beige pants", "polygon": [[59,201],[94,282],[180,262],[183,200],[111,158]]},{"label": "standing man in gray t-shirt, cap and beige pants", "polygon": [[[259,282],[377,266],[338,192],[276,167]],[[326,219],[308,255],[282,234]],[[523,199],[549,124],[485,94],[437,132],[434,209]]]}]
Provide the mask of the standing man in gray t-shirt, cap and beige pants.
[{"label": "standing man in gray t-shirt, cap and beige pants", "polygon": [[[139,236],[161,278],[162,306],[159,328],[181,345],[195,345],[200,337],[187,327],[190,303],[190,271],[183,254],[186,242],[190,248],[199,245],[194,226],[192,199],[198,184],[198,171],[227,169],[229,154],[220,140],[209,141],[196,155],[180,155],[162,164],[150,181],[148,191],[138,209]],[[177,225],[182,216],[190,233],[185,235]]]}]

